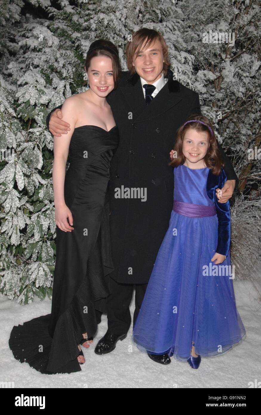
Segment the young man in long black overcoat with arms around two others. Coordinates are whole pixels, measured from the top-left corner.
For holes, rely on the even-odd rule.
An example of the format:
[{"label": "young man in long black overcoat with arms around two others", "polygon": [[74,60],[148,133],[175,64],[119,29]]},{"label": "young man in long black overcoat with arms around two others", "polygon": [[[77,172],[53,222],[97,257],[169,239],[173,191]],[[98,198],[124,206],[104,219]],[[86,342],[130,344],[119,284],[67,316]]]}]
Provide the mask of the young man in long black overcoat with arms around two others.
[{"label": "young man in long black overcoat with arms around two others", "polygon": [[[133,324],[136,321],[173,207],[173,169],[168,162],[175,133],[190,115],[200,114],[199,95],[174,79],[168,47],[159,32],[145,28],[135,32],[126,56],[129,71],[122,72],[117,89],[106,98],[120,143],[110,168],[115,269],[110,273],[111,294],[107,298],[108,330],[95,347],[97,354],[111,352],[117,341],[127,336],[134,285]],[[61,110],[54,109],[46,120],[56,136],[67,129],[66,120],[61,118]],[[220,145],[219,149],[227,181],[218,198],[225,203],[238,178]],[[149,357],[161,364],[171,362],[168,354]]]}]

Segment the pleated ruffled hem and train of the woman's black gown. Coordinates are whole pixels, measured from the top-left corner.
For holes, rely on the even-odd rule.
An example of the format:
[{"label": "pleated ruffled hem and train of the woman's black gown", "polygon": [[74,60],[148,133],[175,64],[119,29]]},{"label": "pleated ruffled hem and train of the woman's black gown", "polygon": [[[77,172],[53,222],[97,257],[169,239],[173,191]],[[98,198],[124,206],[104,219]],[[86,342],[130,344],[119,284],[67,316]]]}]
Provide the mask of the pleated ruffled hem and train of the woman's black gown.
[{"label": "pleated ruffled hem and train of the woman's black gown", "polygon": [[[106,212],[107,207],[104,213],[106,214]],[[51,337],[48,330],[51,314],[36,317],[24,322],[23,325],[12,328],[9,346],[15,359],[21,363],[27,362],[29,366],[42,374],[81,371],[77,359],[79,355],[77,345],[83,339],[82,334],[84,332],[87,332],[88,337],[94,336],[98,326],[95,310],[106,311],[106,297],[110,293],[109,273],[113,270],[113,265],[110,252],[107,251],[110,248],[108,243],[108,237],[110,236],[105,232],[105,216],[102,215],[103,219],[96,242],[96,247],[97,243],[100,242],[102,263],[99,264],[99,269],[95,269],[93,275],[88,274],[88,269],[90,271],[90,266],[88,266],[88,278],[83,278],[70,306],[58,318],[54,336]],[[97,278],[97,270],[100,273],[101,281],[103,279],[104,283],[98,291],[95,291],[94,284],[95,278]],[[88,313],[82,312],[86,306]]]}]

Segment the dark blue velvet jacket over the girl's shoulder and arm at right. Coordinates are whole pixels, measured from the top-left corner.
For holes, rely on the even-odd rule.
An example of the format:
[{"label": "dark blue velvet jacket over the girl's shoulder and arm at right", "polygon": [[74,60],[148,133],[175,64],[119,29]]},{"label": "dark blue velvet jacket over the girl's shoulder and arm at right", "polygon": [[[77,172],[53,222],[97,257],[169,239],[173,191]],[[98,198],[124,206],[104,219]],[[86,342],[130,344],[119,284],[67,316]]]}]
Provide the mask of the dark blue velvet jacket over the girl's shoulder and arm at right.
[{"label": "dark blue velvet jacket over the girl's shoulder and arm at right", "polygon": [[216,196],[216,188],[222,189],[226,180],[227,176],[223,168],[217,176],[209,170],[206,181],[206,193],[210,200],[215,202],[217,212],[218,240],[216,252],[227,256],[231,236],[229,200],[226,203],[219,203]]}]

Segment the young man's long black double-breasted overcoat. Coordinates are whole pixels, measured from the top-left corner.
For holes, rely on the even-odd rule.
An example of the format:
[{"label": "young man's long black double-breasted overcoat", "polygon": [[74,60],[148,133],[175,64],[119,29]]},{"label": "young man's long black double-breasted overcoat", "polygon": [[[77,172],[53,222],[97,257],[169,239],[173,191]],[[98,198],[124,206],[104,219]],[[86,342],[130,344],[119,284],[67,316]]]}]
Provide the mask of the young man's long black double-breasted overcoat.
[{"label": "young man's long black double-breasted overcoat", "polygon": [[[110,276],[119,283],[149,281],[173,207],[174,178],[173,168],[168,166],[169,152],[178,127],[191,114],[200,114],[198,93],[173,80],[172,71],[168,70],[167,77],[168,82],[149,105],[136,72],[132,76],[122,72],[117,89],[107,96],[120,133],[110,168],[114,265]],[[231,162],[220,145],[219,148],[227,180],[235,179],[238,183]]]}]

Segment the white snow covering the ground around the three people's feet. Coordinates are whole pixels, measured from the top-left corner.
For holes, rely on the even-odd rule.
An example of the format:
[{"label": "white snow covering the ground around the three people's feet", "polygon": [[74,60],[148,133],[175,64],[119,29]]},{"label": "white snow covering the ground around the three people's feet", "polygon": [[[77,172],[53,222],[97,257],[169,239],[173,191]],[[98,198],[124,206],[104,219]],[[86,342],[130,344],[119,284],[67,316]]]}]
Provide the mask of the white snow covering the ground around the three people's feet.
[{"label": "white snow covering the ground around the three people's feet", "polygon": [[[17,361],[8,345],[13,325],[51,312],[51,301],[20,305],[0,295],[0,381],[15,382],[15,388],[248,388],[261,381],[261,303],[251,283],[234,281],[237,309],[246,328],[239,344],[224,354],[202,357],[198,370],[175,358],[171,364],[155,363],[132,343],[132,327],[116,349],[106,355],[94,353],[98,340],[107,330],[107,316],[93,344],[83,347],[85,364],[72,374],[42,375],[27,363]],[[134,312],[134,296],[131,312]]]}]

